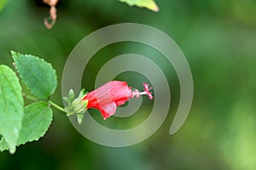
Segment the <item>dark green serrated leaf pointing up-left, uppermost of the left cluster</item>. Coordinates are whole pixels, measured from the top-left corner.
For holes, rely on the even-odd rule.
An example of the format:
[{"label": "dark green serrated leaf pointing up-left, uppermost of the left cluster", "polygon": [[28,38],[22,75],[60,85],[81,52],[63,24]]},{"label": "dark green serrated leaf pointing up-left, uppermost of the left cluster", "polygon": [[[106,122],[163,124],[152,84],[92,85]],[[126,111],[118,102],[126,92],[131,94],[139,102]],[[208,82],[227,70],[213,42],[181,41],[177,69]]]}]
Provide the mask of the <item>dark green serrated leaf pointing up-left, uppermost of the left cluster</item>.
[{"label": "dark green serrated leaf pointing up-left, uppermost of the left cluster", "polygon": [[22,82],[39,99],[49,99],[57,86],[57,77],[52,66],[38,57],[11,52]]}]

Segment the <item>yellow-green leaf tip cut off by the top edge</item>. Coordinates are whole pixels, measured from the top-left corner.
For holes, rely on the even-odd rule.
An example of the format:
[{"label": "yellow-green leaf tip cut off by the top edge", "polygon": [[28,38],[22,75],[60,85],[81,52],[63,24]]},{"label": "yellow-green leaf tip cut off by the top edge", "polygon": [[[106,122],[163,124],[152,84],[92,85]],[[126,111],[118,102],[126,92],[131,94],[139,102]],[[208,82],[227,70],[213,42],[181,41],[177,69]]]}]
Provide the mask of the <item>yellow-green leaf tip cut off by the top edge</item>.
[{"label": "yellow-green leaf tip cut off by the top edge", "polygon": [[122,3],[127,3],[130,6],[136,5],[138,7],[144,7],[148,8],[150,10],[153,10],[154,12],[158,12],[159,8],[156,3],[154,3],[154,0],[119,0]]}]

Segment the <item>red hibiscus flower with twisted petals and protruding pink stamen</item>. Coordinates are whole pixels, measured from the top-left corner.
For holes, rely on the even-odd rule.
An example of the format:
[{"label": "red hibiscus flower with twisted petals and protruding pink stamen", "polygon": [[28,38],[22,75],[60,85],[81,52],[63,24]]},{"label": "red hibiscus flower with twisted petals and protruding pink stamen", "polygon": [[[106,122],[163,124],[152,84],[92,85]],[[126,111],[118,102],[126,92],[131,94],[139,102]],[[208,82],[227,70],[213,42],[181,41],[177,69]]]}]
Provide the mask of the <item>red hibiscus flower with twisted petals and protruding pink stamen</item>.
[{"label": "red hibiscus flower with twisted petals and protruding pink stamen", "polygon": [[132,91],[127,82],[112,81],[86,94],[82,100],[87,100],[88,102],[86,109],[98,109],[101,111],[104,120],[106,120],[115,113],[117,106],[125,104],[128,99],[139,98],[143,94],[148,95],[149,99],[153,99],[152,92],[149,92],[151,88],[148,88],[148,84],[144,82],[143,86],[143,92]]}]

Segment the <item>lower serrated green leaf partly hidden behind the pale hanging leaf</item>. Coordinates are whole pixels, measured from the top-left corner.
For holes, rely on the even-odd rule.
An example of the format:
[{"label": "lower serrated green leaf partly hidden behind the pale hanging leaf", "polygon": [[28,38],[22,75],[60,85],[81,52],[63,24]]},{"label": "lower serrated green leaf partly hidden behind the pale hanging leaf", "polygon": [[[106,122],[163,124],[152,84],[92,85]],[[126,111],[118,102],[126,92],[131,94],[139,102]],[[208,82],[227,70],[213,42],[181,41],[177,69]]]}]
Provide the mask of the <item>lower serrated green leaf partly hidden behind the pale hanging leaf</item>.
[{"label": "lower serrated green leaf partly hidden behind the pale hanging leaf", "polygon": [[[38,140],[44,136],[52,121],[52,110],[46,102],[27,105],[24,109],[22,127],[17,145]],[[8,150],[5,140],[0,141],[0,150]]]}]

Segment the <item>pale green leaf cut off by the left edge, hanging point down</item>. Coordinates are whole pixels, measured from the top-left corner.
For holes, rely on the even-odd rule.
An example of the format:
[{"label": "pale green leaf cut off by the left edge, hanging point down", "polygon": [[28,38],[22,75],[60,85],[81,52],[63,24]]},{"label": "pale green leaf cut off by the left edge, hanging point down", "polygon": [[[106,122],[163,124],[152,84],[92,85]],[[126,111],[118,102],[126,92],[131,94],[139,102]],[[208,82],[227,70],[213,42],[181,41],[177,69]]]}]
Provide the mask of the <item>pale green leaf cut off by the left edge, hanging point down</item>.
[{"label": "pale green leaf cut off by the left edge, hanging point down", "polygon": [[19,137],[23,106],[18,77],[8,66],[0,65],[0,133],[11,153],[15,152]]}]

